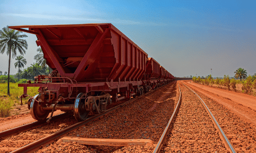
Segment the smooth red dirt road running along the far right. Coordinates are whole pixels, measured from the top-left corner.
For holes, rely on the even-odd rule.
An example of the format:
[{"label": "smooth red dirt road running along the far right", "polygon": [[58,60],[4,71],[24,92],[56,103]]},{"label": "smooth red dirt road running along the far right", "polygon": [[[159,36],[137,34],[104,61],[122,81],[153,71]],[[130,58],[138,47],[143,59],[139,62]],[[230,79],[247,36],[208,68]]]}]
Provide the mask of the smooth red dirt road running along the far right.
[{"label": "smooth red dirt road running along the far right", "polygon": [[236,114],[249,123],[256,125],[256,97],[244,93],[237,93],[224,89],[209,87],[194,83],[192,80],[182,81],[195,92],[200,92],[207,97],[222,104],[226,109]]}]

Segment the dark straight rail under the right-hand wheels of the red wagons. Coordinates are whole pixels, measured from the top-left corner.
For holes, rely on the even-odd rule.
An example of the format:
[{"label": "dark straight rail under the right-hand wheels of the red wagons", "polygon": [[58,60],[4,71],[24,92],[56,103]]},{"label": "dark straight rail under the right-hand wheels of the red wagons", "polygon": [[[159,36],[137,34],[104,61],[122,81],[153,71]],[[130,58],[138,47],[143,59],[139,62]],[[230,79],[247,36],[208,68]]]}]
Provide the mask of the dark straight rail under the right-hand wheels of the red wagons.
[{"label": "dark straight rail under the right-hand wheels of the red wagons", "polygon": [[[169,84],[169,83],[168,83],[168,84]],[[167,85],[167,84],[166,84],[166,85]],[[164,85],[164,86],[166,86],[166,85]],[[162,87],[164,87],[164,86],[162,86]],[[160,88],[162,88],[162,87],[159,87],[158,89],[160,89]],[[84,124],[87,124],[87,123],[89,123],[89,122],[91,122],[91,121],[93,121],[93,120],[96,120],[96,119],[98,119],[99,117],[101,117],[101,116],[103,116],[103,115],[109,114],[109,113],[111,113],[112,111],[114,111],[114,110],[116,110],[116,109],[119,109],[119,108],[121,108],[122,106],[125,106],[125,105],[131,103],[132,101],[134,101],[134,100],[136,100],[136,99],[138,99],[138,98],[140,98],[140,97],[143,97],[143,96],[145,96],[145,95],[147,95],[147,94],[150,94],[150,93],[152,93],[152,92],[154,92],[154,91],[155,91],[155,90],[152,90],[152,91],[147,92],[147,93],[145,93],[145,94],[143,94],[143,95],[141,95],[141,96],[138,96],[138,97],[133,98],[133,99],[131,99],[131,100],[125,101],[124,103],[122,103],[122,104],[120,104],[120,105],[118,105],[118,106],[115,106],[115,107],[113,107],[113,108],[111,108],[111,109],[109,109],[109,110],[106,110],[105,112],[103,112],[103,113],[101,113],[101,114],[94,115],[94,116],[92,116],[92,117],[90,117],[90,118],[87,118],[87,119],[84,120],[84,121],[81,121],[81,122],[78,122],[78,123],[76,123],[76,124],[73,124],[73,125],[71,125],[71,126],[69,126],[69,127],[66,127],[65,129],[60,130],[60,131],[58,131],[58,132],[56,132],[56,133],[54,133],[54,134],[52,134],[52,135],[49,135],[49,136],[47,136],[47,137],[45,137],[45,138],[39,139],[39,140],[37,140],[37,141],[34,141],[34,142],[32,142],[32,143],[30,143],[30,144],[28,144],[28,145],[26,145],[26,146],[23,146],[23,147],[21,147],[21,148],[18,148],[18,149],[16,149],[16,150],[12,151],[12,153],[14,153],[14,152],[33,152],[33,151],[36,151],[39,147],[45,146],[45,145],[47,145],[47,144],[49,144],[49,143],[54,142],[55,140],[59,139],[61,136],[64,136],[64,135],[66,135],[67,133],[69,133],[69,132],[75,130],[77,127],[79,127],[79,126],[81,126],[81,125],[84,125]]]}]

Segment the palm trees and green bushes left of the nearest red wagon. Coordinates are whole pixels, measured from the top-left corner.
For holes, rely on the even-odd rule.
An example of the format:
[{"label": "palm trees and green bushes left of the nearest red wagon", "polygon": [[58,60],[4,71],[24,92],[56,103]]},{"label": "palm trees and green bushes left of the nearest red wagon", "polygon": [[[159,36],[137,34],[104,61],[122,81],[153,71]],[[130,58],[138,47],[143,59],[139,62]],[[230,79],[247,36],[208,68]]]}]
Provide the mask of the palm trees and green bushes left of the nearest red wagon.
[{"label": "palm trees and green bushes left of the nearest red wagon", "polygon": [[[9,56],[8,72],[4,72],[3,75],[3,71],[0,71],[0,83],[7,82],[8,95],[10,95],[10,82],[15,83],[21,81],[20,83],[25,83],[26,80],[33,80],[38,74],[47,75],[51,72],[50,67],[46,64],[41,48],[37,48],[37,52],[39,53],[34,57],[36,63],[22,70],[27,64],[27,60],[23,57],[26,54],[25,49],[28,49],[27,40],[24,39],[26,37],[28,36],[23,34],[23,32],[9,29],[8,25],[0,30],[0,53],[6,53]],[[17,56],[17,53],[20,55]],[[15,75],[10,75],[11,57],[16,60],[14,63],[15,68],[18,67],[18,72]]]}]

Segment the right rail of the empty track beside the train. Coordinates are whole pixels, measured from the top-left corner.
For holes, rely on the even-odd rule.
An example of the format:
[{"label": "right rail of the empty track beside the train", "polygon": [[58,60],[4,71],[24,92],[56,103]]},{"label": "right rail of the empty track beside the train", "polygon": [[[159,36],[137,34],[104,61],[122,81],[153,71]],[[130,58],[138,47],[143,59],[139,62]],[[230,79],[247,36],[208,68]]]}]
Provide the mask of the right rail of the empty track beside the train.
[{"label": "right rail of the empty track beside the train", "polygon": [[[182,83],[184,86],[186,86],[184,83]],[[186,86],[187,87],[187,86]],[[191,92],[193,92],[194,94],[197,95],[197,97],[199,98],[199,100],[201,101],[201,103],[203,104],[204,108],[206,109],[207,113],[209,114],[209,116],[212,119],[212,122],[214,122],[215,126],[217,127],[221,139],[224,142],[226,148],[230,151],[230,152],[236,152],[236,150],[234,150],[232,144],[229,142],[227,136],[225,135],[225,133],[223,132],[223,130],[221,129],[220,124],[218,123],[218,121],[215,119],[214,115],[212,115],[212,113],[210,112],[210,109],[206,106],[206,104],[204,103],[204,101],[201,99],[201,97],[192,89],[190,89],[189,87],[187,87]]]}]

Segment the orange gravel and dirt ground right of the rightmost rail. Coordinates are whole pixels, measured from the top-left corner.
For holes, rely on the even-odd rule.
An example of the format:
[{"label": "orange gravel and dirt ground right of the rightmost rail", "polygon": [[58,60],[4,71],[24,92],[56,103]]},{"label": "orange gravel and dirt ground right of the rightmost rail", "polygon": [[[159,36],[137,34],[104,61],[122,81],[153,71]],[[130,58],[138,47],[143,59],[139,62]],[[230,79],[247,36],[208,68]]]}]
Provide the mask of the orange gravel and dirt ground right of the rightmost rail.
[{"label": "orange gravel and dirt ground right of the rightmost rail", "polygon": [[[197,86],[193,86],[192,83],[190,84],[190,81],[187,81],[185,84],[197,92],[197,94],[204,100],[237,152],[255,152],[256,111],[245,107],[243,101],[240,101],[239,103],[232,101],[232,96],[229,96],[228,94],[220,96],[214,92],[215,90],[218,90],[229,92],[232,95],[238,93],[218,88],[211,90],[212,87],[204,87],[204,85],[202,85],[204,88],[198,88]],[[243,96],[254,98],[247,94],[240,93],[240,95],[240,98]],[[244,101],[246,101],[246,99],[247,98],[245,98]]]}]

